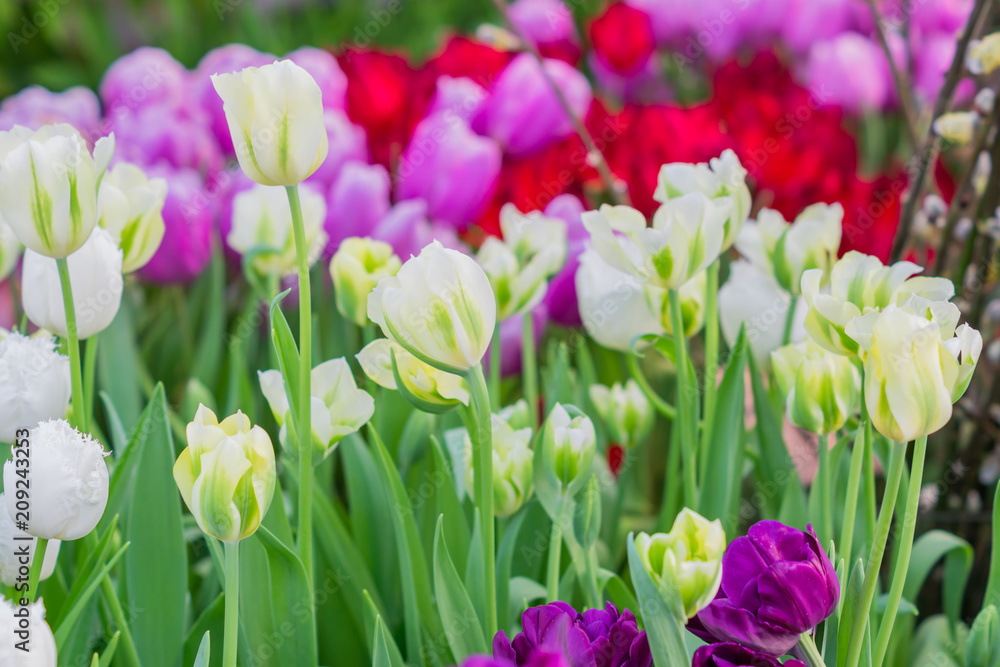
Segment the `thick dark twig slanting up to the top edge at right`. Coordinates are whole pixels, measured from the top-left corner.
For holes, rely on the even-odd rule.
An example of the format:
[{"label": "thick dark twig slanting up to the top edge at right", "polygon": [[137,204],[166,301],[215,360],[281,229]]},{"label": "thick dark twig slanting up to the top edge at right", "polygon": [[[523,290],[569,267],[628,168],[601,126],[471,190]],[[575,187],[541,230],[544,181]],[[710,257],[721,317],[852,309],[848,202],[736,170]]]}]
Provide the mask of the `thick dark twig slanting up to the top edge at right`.
[{"label": "thick dark twig slanting up to the top edge at right", "polygon": [[965,25],[962,36],[958,40],[958,45],[955,47],[955,57],[951,61],[951,66],[945,75],[944,84],[941,86],[937,100],[934,102],[931,123],[927,126],[920,151],[914,156],[920,158],[920,163],[917,175],[913,179],[909,193],[906,196],[903,214],[899,219],[899,229],[896,230],[896,238],[892,242],[892,252],[889,255],[890,262],[898,261],[903,255],[907,238],[913,229],[913,218],[917,212],[920,195],[924,190],[927,171],[937,155],[938,139],[934,135],[934,120],[941,116],[951,104],[952,95],[955,94],[955,88],[958,87],[959,79],[961,79],[962,71],[965,68],[965,53],[969,50],[969,42],[972,41],[972,36],[977,32],[977,27],[981,22],[980,19],[985,16],[991,4],[991,0],[976,0],[976,4],[969,14],[969,22]]}]

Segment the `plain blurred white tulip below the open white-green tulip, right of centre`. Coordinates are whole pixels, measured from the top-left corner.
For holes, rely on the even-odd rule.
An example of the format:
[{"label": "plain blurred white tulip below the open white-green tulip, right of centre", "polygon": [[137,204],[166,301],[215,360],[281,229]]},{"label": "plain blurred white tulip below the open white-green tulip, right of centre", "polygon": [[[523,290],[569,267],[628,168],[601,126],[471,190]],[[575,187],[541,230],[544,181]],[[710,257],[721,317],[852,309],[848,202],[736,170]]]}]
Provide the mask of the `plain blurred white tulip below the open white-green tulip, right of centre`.
[{"label": "plain blurred white tulip below the open white-green tulip, right of centre", "polygon": [[[719,289],[719,324],[730,346],[736,343],[740,326],[746,326],[747,342],[762,368],[771,365],[771,352],[784,344],[792,295],[781,289],[774,276],[742,260],[729,267],[729,279]],[[792,315],[790,342],[805,337],[803,321],[808,308],[800,299]]]}]

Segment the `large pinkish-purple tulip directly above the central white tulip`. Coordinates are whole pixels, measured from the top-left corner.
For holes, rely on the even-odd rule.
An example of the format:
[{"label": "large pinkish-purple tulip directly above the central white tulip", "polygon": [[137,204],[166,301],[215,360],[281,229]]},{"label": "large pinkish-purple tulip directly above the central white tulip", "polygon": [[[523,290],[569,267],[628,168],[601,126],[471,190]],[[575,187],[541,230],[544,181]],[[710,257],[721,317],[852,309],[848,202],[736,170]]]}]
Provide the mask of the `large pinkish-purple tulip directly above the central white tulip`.
[{"label": "large pinkish-purple tulip directly above the central white tulip", "polygon": [[431,220],[464,229],[489,203],[500,176],[500,147],[457,116],[424,118],[399,163],[396,195],[423,199]]}]

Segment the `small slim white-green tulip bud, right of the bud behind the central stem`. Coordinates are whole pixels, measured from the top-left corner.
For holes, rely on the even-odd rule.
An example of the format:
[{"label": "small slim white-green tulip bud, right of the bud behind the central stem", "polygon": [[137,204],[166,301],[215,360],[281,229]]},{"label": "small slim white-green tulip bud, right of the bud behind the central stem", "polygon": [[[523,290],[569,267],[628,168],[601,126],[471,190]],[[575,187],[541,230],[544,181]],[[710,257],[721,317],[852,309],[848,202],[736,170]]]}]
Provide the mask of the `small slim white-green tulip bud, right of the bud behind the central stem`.
[{"label": "small slim white-green tulip bud, right of the bud behind the central stem", "polygon": [[582,414],[570,417],[556,403],[545,421],[541,446],[544,474],[557,491],[573,495],[590,477],[597,448],[594,423]]}]

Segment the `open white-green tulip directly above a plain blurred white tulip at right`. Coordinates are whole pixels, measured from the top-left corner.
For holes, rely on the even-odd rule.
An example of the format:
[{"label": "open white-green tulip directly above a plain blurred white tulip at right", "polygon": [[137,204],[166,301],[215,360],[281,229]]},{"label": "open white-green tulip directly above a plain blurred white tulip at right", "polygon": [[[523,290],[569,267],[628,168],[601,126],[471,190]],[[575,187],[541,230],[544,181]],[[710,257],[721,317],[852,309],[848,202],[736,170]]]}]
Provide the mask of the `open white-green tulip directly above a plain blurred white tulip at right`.
[{"label": "open white-green tulip directly above a plain blurred white tulip at right", "polygon": [[752,264],[766,267],[782,289],[797,295],[805,271],[829,273],[837,259],[843,222],[840,204],[813,204],[791,224],[777,211],[765,208],[756,222],[740,231],[736,249]]}]

